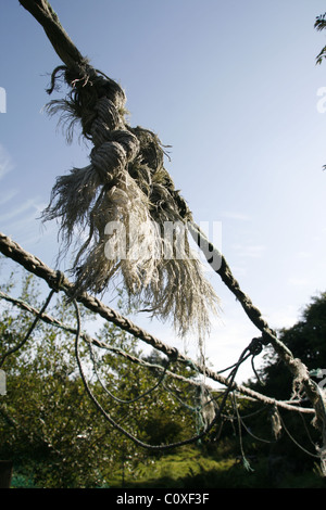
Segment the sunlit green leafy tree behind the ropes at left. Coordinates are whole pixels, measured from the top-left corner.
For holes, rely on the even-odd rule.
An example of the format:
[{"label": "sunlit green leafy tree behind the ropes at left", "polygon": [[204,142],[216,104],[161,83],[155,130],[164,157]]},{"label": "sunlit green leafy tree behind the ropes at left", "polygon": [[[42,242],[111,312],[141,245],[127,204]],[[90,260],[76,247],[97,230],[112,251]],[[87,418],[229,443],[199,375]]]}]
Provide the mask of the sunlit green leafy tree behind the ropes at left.
[{"label": "sunlit green leafy tree behind the ropes at left", "polygon": [[[14,289],[13,278],[0,286],[5,292]],[[40,308],[40,290],[34,277],[23,276],[20,298]],[[83,326],[95,319],[89,311],[80,311]],[[48,314],[71,328],[76,324],[74,307],[61,295]],[[22,343],[33,320],[25,310],[2,303],[0,356]],[[145,356],[136,340],[116,327],[100,326],[96,337],[99,343],[110,344],[111,350],[93,346],[90,357],[84,343],[80,357],[92,394],[115,421],[149,444],[195,434],[193,413],[185,407],[180,413],[172,382],[164,380],[164,387],[158,385],[163,359],[154,354]],[[122,476],[122,466],[127,472],[128,468],[137,469],[139,462],[151,461],[146,450],[103,419],[86,395],[74,340],[70,331],[39,321],[28,342],[3,364],[8,394],[0,401],[0,458],[13,460],[14,473],[37,486],[103,486],[112,481],[112,473]],[[121,352],[130,358],[122,357]],[[141,359],[145,365],[133,359]],[[97,361],[96,366],[90,360]],[[191,371],[184,369],[184,374],[189,377]],[[191,385],[178,384],[177,391],[189,405]],[[135,401],[128,405],[129,400]]]}]

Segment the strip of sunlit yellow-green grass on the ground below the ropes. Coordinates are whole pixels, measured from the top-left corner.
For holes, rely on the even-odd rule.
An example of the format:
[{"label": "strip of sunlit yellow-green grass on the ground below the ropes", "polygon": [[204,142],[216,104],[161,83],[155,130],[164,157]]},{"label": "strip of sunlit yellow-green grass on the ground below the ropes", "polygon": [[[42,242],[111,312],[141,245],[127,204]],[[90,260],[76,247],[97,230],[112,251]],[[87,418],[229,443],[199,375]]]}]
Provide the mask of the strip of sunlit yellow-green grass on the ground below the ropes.
[{"label": "strip of sunlit yellow-green grass on the ground below the ropes", "polygon": [[281,481],[273,481],[266,459],[251,461],[250,468],[246,469],[235,457],[214,459],[186,448],[138,466],[125,474],[124,484],[120,473],[109,485],[116,488],[326,488],[326,480],[317,469],[298,475],[289,473]]}]

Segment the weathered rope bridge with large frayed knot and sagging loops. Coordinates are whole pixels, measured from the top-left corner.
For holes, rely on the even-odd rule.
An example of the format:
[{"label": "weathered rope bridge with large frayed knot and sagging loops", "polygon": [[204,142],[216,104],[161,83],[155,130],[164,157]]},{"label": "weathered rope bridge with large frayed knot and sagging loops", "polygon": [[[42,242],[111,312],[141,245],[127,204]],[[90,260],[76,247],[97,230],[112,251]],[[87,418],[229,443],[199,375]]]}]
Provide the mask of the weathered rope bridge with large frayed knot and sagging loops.
[{"label": "weathered rope bridge with large frayed knot and sagging loops", "polygon": [[[0,233],[2,254],[45,280],[51,288],[49,297],[40,310],[33,309],[23,302],[15,301],[14,304],[36,316],[34,324],[38,320],[45,320],[55,327],[67,328],[46,314],[48,302],[54,292],[66,294],[74,304],[77,318],[77,329],[71,332],[75,334],[75,354],[85,388],[105,419],[139,446],[166,449],[198,441],[214,428],[222,417],[227,398],[237,393],[246,398],[253,398],[272,406],[274,410],[284,408],[312,415],[314,424],[321,432],[322,446],[317,447],[317,457],[321,460],[322,471],[326,475],[326,412],[321,390],[311,379],[301,360],[294,358],[279,341],[263,319],[259,308],[241,290],[225,257],[211,244],[196,224],[186,201],[175,190],[173,180],[164,168],[164,150],[160,140],[147,129],[131,128],[126,124],[123,90],[102,72],[95,69],[79,53],[48,0],[21,0],[20,3],[43,27],[53,49],[64,63],[53,71],[48,92],[51,93],[62,80],[68,85],[71,93],[64,100],[51,101],[48,105],[49,112],[51,114],[61,112],[62,118],[68,123],[68,138],[72,136],[75,123],[79,122],[83,135],[93,143],[93,149],[87,167],[74,168],[68,176],[58,178],[50,204],[43,212],[45,220],[61,220],[63,253],[66,253],[76,230],[83,233],[88,231],[86,241],[78,246],[74,262],[72,271],[74,282],[46,266],[5,234]],[[134,226],[134,228],[136,226],[136,230],[140,225],[147,226],[141,238],[141,242],[146,240],[148,248],[143,256],[140,253],[136,259],[105,257],[104,245],[108,241],[103,234],[105,225],[117,218],[121,218],[124,225]],[[166,221],[180,222],[185,226],[187,232],[203,252],[208,264],[236,296],[248,318],[260,331],[260,336],[253,339],[243,349],[227,378],[224,378],[221,372],[215,372],[187,358],[175,347],[161,342],[93,296],[106,290],[120,272],[123,275],[125,289],[138,305],[149,304],[153,316],[163,319],[172,318],[180,335],[196,328],[198,337],[202,341],[209,328],[209,313],[216,308],[218,298],[203,278],[198,260],[189,256],[188,238],[184,246],[186,256],[183,259],[172,256],[162,262],[162,257],[156,257],[158,251],[162,253],[162,250],[167,250],[174,253],[175,250],[173,242],[171,245],[167,244],[166,239],[163,239],[160,233],[160,227]],[[159,228],[148,228],[152,224]],[[133,241],[134,238],[130,237],[127,243],[129,251],[134,248]],[[111,247],[116,248],[116,243],[118,244],[118,240],[112,238]],[[0,297],[7,301],[13,299],[3,293]],[[88,335],[85,336],[82,331],[80,304],[160,350],[170,362],[177,360],[183,365],[191,366],[204,377],[204,380],[212,379],[226,387],[221,405],[215,407],[213,419],[199,434],[177,444],[153,446],[142,443],[113,420],[92,394],[80,362],[79,341],[84,339],[90,346],[96,345],[96,341]],[[26,337],[29,334],[30,331],[27,332]],[[305,393],[311,408],[299,407],[293,401],[277,401],[236,383],[235,379],[240,365],[249,357],[254,358],[266,345],[271,345],[288,367],[293,377],[293,386]],[[101,347],[112,348],[108,345],[101,345]],[[121,350],[117,353],[121,356],[128,356]],[[142,360],[136,358],[133,361],[143,364]],[[163,383],[167,373],[178,377],[168,370],[168,364],[158,370],[161,371],[158,384]],[[209,386],[204,384],[203,387],[210,395]]]}]

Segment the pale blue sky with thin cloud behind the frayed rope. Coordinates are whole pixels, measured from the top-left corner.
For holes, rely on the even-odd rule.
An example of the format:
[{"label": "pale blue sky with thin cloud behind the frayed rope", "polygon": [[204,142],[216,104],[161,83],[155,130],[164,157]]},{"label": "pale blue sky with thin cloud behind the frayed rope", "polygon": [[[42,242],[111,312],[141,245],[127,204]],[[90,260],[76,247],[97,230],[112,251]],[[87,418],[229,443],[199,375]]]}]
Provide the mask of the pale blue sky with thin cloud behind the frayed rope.
[{"label": "pale blue sky with thin cloud behind the frayed rope", "polygon": [[[37,218],[57,176],[87,164],[90,148],[78,132],[67,145],[57,119],[42,113],[49,74],[61,64],[43,30],[18,0],[0,7],[0,230],[53,267],[58,228],[42,229]],[[221,222],[222,251],[269,326],[293,324],[326,291],[326,101],[317,95],[326,62],[315,65],[326,31],[314,29],[325,1],[52,7],[79,51],[123,86],[130,124],[172,145],[166,168],[176,188],[198,222]],[[206,339],[220,370],[258,330],[220,277],[206,275],[222,299]],[[179,345],[167,324],[135,320]],[[251,373],[249,364],[240,379]]]}]

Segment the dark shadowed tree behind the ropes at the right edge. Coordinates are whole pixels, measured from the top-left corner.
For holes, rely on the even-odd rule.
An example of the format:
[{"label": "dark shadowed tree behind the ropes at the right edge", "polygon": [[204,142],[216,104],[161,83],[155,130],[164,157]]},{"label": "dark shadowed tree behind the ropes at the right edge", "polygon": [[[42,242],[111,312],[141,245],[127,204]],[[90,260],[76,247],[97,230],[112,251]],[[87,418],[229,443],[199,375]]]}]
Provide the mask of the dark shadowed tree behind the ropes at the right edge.
[{"label": "dark shadowed tree behind the ropes at the right edge", "polygon": [[[308,367],[312,374],[317,374],[316,369],[326,368],[326,292],[312,298],[311,303],[303,309],[300,320],[288,329],[279,332],[280,341],[293,353],[294,357]],[[264,393],[276,399],[287,400],[290,398],[301,399],[302,407],[310,407],[304,398],[304,393],[292,385],[292,378],[285,364],[277,358],[272,349],[265,356],[265,364],[259,371]],[[321,382],[315,378],[316,384]],[[251,383],[251,386],[261,391],[261,383]],[[258,409],[258,406],[252,408]],[[267,409],[266,409],[267,411]],[[271,462],[279,460],[278,475],[287,472],[299,473],[309,471],[318,466],[316,458],[316,445],[319,442],[319,433],[314,429],[312,418],[308,415],[287,412],[278,410],[280,421],[280,433],[278,441],[271,435],[272,418],[266,420],[266,412],[261,412],[251,422],[251,430],[261,437],[271,438],[271,443],[262,445],[265,455],[269,456]],[[262,449],[261,449],[262,450]],[[304,467],[304,468],[303,468]],[[318,469],[318,468],[316,468]]]}]

